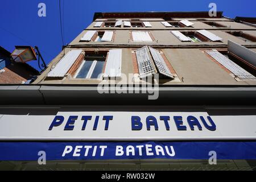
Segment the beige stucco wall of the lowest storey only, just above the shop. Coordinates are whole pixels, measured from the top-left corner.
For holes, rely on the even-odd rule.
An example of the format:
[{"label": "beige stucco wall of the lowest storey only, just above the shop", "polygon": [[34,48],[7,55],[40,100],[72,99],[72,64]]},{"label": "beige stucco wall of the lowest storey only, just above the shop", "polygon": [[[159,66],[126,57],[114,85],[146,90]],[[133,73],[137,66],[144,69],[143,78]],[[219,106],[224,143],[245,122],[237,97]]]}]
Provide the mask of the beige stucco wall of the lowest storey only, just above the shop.
[{"label": "beige stucco wall of the lowest storey only, just above the shop", "polygon": [[[68,49],[65,50],[66,52]],[[225,72],[219,65],[214,63],[200,49],[162,49],[168,61],[175,69],[177,76],[183,78],[184,82],[168,81],[164,84],[174,85],[246,85],[256,84],[256,82],[236,81],[229,73]],[[122,73],[127,77],[133,73],[133,63],[130,48],[122,49]],[[44,80],[52,65],[61,59],[63,52],[49,64],[47,70],[39,76],[37,82],[40,84],[98,84],[101,81],[93,79],[76,79],[65,77],[62,80],[57,78]],[[43,81],[40,81],[43,80]]]}]

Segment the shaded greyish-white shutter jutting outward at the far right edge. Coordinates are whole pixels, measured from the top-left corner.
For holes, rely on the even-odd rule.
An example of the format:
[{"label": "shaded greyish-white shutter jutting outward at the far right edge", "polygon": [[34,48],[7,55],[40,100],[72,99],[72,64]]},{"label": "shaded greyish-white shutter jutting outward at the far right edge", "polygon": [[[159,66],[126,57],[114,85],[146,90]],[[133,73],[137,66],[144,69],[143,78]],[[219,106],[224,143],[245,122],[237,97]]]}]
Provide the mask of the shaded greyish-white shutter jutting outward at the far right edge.
[{"label": "shaded greyish-white shutter jutting outward at the far right edge", "polygon": [[234,53],[243,60],[247,61],[247,63],[250,63],[256,67],[256,52],[234,43],[231,40],[228,40],[228,51]]}]

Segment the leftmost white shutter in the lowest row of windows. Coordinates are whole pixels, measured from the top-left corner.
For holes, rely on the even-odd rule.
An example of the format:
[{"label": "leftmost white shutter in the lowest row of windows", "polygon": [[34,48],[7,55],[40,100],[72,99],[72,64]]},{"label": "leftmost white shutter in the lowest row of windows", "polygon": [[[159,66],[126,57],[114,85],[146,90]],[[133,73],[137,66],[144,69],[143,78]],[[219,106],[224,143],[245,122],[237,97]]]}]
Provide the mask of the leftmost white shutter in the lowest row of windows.
[{"label": "leftmost white shutter in the lowest row of windows", "polygon": [[73,49],[69,51],[60,61],[56,64],[55,68],[52,69],[47,75],[47,77],[64,77],[72,65],[75,63],[79,55],[81,54],[81,49]]}]

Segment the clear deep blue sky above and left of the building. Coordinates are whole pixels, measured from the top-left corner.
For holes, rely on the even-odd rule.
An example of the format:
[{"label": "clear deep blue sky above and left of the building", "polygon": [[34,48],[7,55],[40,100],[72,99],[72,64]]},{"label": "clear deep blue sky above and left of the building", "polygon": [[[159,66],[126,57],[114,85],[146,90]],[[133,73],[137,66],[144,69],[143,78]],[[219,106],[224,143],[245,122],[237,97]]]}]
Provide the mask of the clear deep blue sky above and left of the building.
[{"label": "clear deep blue sky above and left of the building", "polygon": [[[40,2],[46,3],[46,17],[38,16]],[[230,18],[256,17],[255,0],[61,0],[64,43],[80,34],[95,12],[208,11],[211,2]],[[47,64],[61,51],[59,0],[1,0],[0,17],[0,46],[8,51],[12,52],[15,45],[38,46]],[[38,69],[37,61],[30,64]]]}]

